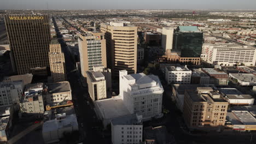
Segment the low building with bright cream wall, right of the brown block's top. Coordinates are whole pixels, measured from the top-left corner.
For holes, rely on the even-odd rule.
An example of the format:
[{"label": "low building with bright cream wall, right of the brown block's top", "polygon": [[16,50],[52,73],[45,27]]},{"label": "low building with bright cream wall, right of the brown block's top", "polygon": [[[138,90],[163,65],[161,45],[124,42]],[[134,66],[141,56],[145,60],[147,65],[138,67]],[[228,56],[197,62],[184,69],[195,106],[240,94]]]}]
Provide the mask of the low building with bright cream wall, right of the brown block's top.
[{"label": "low building with bright cream wall, right of the brown block's top", "polygon": [[254,98],[249,94],[242,94],[236,88],[219,88],[219,92],[231,105],[253,105]]}]

